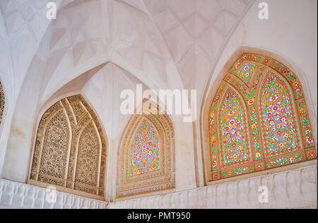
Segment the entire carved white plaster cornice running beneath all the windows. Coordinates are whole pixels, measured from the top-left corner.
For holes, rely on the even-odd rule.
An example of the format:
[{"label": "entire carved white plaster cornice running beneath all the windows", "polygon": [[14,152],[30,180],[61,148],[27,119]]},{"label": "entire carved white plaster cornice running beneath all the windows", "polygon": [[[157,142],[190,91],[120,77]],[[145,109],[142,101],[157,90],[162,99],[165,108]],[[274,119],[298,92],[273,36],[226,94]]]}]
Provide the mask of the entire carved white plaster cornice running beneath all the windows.
[{"label": "entire carved white plaster cornice running beneath all the windows", "polygon": [[[268,203],[260,203],[260,186],[268,188]],[[277,174],[220,183],[189,191],[104,203],[67,193],[57,193],[57,203],[47,203],[45,188],[0,179],[0,208],[109,208],[109,209],[317,209],[317,162]]]}]

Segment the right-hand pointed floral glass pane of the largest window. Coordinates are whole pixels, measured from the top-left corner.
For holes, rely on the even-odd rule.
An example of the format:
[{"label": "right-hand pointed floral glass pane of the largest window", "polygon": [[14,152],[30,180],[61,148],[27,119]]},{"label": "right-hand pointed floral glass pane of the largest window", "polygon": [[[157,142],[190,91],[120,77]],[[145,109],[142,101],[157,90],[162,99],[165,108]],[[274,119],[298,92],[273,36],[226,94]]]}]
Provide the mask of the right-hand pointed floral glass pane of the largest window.
[{"label": "right-hand pointed floral glass pane of the largest window", "polygon": [[288,85],[268,71],[259,95],[265,157],[300,150],[298,123]]}]

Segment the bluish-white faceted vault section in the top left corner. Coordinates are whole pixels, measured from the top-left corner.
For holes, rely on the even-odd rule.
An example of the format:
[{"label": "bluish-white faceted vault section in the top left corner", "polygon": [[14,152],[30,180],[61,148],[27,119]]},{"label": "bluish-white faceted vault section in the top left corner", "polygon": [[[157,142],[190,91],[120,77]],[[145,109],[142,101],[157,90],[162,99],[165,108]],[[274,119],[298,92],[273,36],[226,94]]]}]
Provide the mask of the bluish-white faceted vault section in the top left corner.
[{"label": "bluish-white faceted vault section in the top left corner", "polygon": [[[57,0],[57,6],[62,0]],[[15,95],[23,83],[49,20],[48,0],[0,1],[0,73],[8,93]]]}]

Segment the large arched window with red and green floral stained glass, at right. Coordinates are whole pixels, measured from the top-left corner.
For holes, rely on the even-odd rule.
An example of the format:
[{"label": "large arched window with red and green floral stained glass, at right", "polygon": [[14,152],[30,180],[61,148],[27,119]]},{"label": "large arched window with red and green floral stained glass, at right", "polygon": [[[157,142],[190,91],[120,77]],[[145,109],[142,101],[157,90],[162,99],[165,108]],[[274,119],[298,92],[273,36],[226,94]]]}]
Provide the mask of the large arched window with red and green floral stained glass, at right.
[{"label": "large arched window with red and green floral stained glass, at right", "polygon": [[243,54],[210,110],[211,180],[317,159],[305,95],[275,59]]}]

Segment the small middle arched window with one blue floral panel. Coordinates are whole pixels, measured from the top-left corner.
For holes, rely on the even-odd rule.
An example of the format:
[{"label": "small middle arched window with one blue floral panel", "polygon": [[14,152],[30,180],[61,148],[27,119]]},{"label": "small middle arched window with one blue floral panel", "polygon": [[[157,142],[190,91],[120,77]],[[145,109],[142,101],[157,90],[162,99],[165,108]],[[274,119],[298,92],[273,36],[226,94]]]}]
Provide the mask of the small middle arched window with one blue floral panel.
[{"label": "small middle arched window with one blue floral panel", "polygon": [[[157,114],[148,110],[151,104],[158,109]],[[131,116],[120,138],[117,198],[175,188],[172,121],[154,102],[143,100],[143,111],[146,114]]]}]

